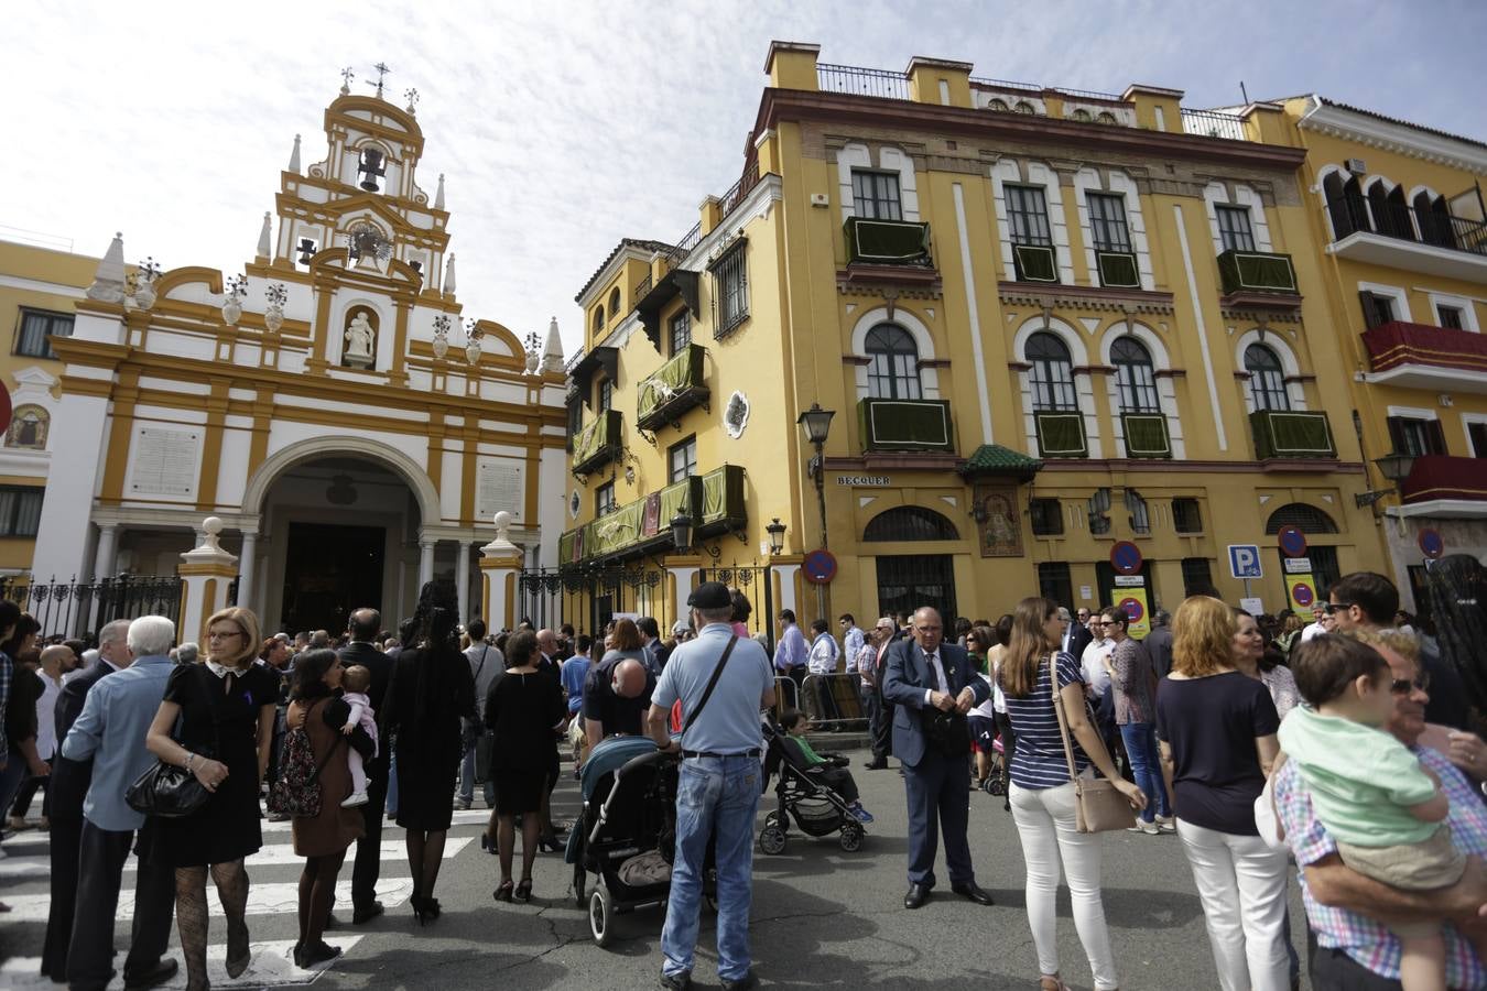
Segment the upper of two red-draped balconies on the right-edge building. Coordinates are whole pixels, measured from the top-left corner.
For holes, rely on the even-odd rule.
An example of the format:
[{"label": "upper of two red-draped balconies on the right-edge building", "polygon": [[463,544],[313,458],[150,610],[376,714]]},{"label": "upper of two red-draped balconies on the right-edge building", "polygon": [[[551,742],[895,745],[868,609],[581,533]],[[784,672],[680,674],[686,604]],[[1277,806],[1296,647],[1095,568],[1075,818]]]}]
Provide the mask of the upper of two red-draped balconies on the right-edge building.
[{"label": "upper of two red-draped balconies on the right-edge building", "polygon": [[1393,319],[1364,331],[1368,382],[1439,392],[1487,392],[1487,336]]}]

